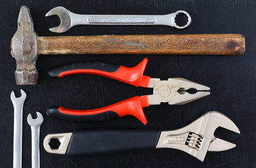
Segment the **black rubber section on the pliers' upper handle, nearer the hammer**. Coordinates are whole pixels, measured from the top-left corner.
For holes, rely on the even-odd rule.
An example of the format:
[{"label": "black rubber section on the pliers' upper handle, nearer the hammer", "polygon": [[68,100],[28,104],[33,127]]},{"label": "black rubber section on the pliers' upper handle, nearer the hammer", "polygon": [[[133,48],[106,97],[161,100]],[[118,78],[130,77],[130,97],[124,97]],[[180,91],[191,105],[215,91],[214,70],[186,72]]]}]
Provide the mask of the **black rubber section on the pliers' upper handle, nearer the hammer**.
[{"label": "black rubber section on the pliers' upper handle, nearer the hammer", "polygon": [[50,77],[58,77],[60,73],[76,69],[94,69],[98,71],[114,72],[120,65],[109,64],[107,62],[70,62],[59,66],[54,66],[48,70]]}]

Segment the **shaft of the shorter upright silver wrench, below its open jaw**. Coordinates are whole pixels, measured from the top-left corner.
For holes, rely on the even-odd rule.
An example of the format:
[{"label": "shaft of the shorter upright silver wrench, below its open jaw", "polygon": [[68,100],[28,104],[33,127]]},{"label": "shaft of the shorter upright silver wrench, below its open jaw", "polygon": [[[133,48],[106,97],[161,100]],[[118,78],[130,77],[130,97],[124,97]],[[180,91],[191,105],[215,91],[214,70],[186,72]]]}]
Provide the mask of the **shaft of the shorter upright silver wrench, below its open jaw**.
[{"label": "shaft of the shorter upright silver wrench, below its open jaw", "polygon": [[40,125],[31,127],[32,132],[32,168],[40,167],[39,134]]}]

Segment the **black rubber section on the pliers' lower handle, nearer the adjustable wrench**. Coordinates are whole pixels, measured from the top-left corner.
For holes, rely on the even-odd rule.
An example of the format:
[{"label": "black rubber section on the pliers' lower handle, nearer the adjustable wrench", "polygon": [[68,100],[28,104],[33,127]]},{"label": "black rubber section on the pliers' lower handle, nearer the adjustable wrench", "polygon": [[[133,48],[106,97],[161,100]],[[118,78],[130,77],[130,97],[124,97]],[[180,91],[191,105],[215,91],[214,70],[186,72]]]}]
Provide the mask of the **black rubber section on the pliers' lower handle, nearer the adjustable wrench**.
[{"label": "black rubber section on the pliers' lower handle, nearer the adjustable wrench", "polygon": [[58,118],[60,120],[66,120],[69,122],[79,122],[79,123],[93,123],[105,120],[110,120],[112,118],[119,118],[119,115],[115,111],[105,111],[104,113],[97,113],[93,115],[69,115],[65,113],[60,113],[58,107],[53,106],[46,110],[46,114],[53,118]]}]

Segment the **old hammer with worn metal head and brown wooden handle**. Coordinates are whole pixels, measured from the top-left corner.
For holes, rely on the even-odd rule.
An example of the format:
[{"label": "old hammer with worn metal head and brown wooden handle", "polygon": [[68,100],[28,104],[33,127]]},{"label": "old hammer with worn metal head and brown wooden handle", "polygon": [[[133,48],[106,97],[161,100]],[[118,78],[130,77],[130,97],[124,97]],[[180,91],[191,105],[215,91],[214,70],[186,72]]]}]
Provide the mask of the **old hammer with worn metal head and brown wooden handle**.
[{"label": "old hammer with worn metal head and brown wooden handle", "polygon": [[20,8],[18,30],[11,40],[17,85],[36,85],[38,55],[241,55],[244,51],[241,34],[37,36],[26,6]]}]

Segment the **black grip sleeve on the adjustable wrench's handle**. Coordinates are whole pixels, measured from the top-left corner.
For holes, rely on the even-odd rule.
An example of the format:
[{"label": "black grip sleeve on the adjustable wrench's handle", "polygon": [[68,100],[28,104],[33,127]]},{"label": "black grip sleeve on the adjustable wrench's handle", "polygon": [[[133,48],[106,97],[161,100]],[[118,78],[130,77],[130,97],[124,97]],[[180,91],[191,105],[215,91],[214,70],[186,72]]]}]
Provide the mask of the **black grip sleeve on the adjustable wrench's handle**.
[{"label": "black grip sleeve on the adjustable wrench's handle", "polygon": [[154,149],[160,130],[76,130],[66,155],[97,155]]}]

